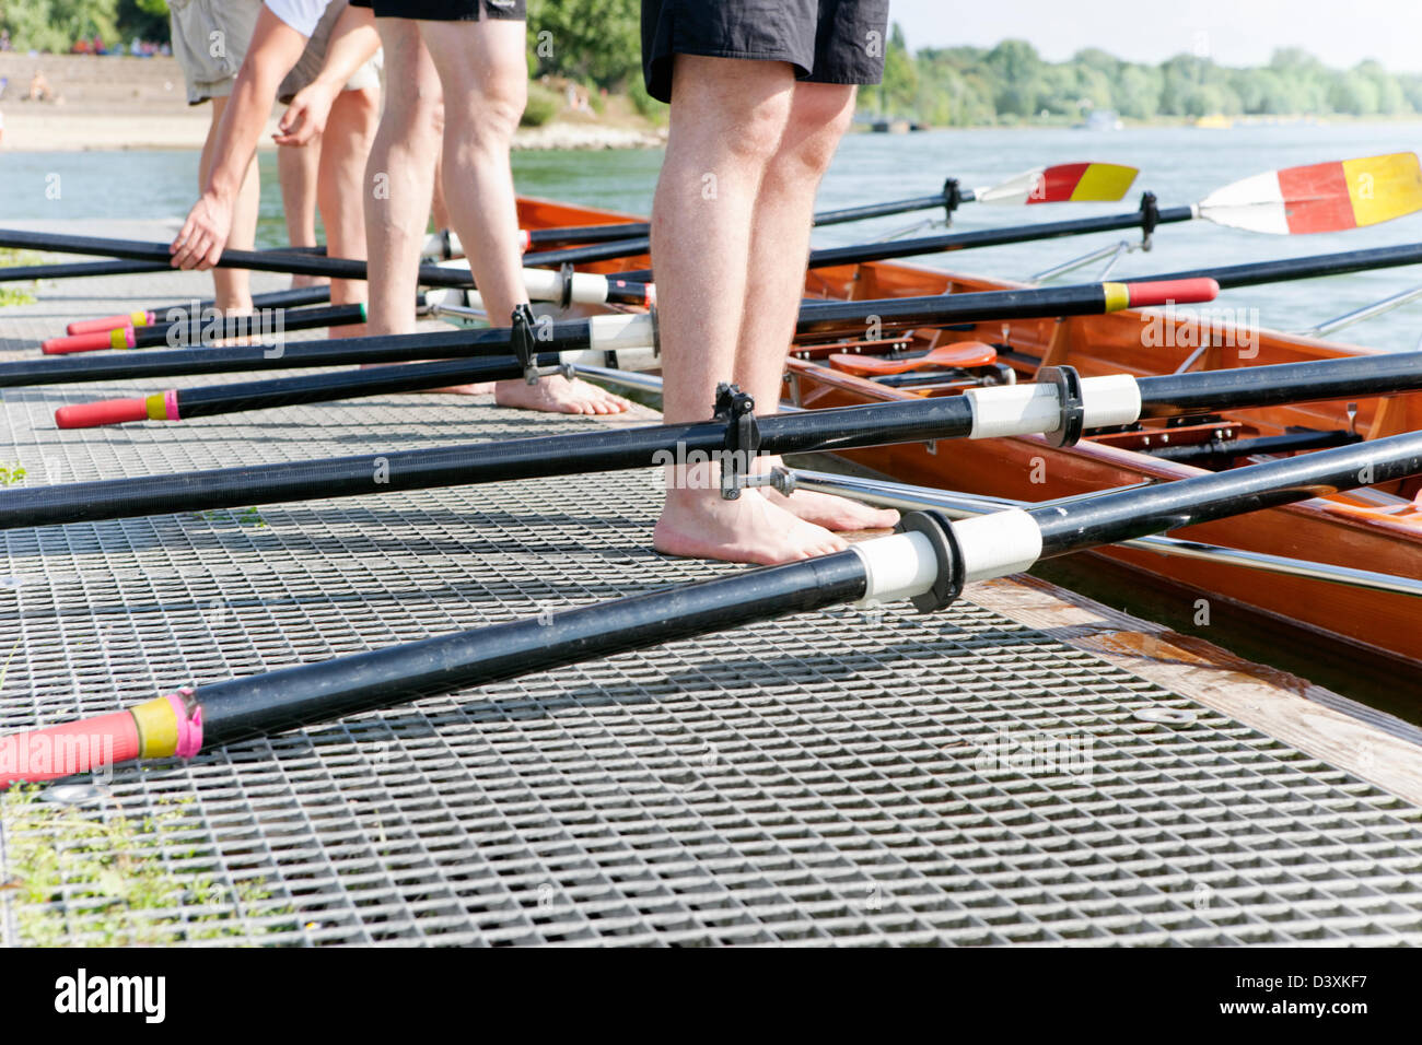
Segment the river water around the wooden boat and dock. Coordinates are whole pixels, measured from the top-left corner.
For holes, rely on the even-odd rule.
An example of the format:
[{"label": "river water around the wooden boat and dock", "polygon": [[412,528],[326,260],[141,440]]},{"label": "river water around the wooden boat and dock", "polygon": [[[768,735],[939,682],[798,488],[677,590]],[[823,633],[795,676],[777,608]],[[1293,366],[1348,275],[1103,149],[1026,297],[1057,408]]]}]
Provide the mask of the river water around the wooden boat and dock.
[{"label": "river water around the wooden boat and dock", "polygon": [[[1347,122],[1197,128],[1132,128],[1121,132],[1071,129],[934,131],[913,135],[850,135],[842,144],[819,196],[823,209],[939,191],[944,178],[985,186],[1034,166],[1076,161],[1109,161],[1140,168],[1122,203],[1072,203],[1051,208],[964,205],[958,229],[1041,222],[1132,210],[1140,191],[1153,191],[1162,206],[1203,199],[1213,189],[1263,171],[1328,159],[1413,151],[1422,144],[1422,122]],[[520,152],[513,169],[519,192],[574,203],[647,213],[661,162],[658,151]],[[286,242],[280,218],[274,158],[262,156],[262,227],[259,246]],[[55,182],[55,176],[58,181]],[[0,152],[0,226],[7,219],[114,216],[178,218],[195,195],[196,155],[191,152]],[[58,193],[54,186],[58,185]],[[57,195],[57,198],[55,198]],[[886,236],[917,220],[894,216],[832,226],[816,232],[816,245],[832,246]],[[1025,279],[1034,272],[1122,239],[1106,233],[1045,243],[958,252],[920,259],[963,272]],[[1422,239],[1422,215],[1386,225],[1325,236],[1266,236],[1189,222],[1162,227],[1149,254],[1132,254],[1116,276],[1234,264],[1335,250],[1357,250]],[[1068,279],[1085,282],[1096,270]],[[1221,304],[1258,309],[1267,327],[1301,330],[1388,294],[1422,284],[1422,270],[1391,269],[1325,280],[1284,283],[1227,291]],[[1398,351],[1418,347],[1422,303],[1347,331],[1358,344]],[[1119,609],[1193,631],[1237,653],[1297,671],[1317,682],[1412,721],[1419,712],[1408,695],[1415,685],[1384,671],[1368,677],[1351,657],[1298,648],[1295,637],[1278,637],[1247,620],[1219,617],[1207,628],[1192,624],[1193,603],[1177,593],[1155,593],[1095,566],[1052,566],[1048,576]]]}]

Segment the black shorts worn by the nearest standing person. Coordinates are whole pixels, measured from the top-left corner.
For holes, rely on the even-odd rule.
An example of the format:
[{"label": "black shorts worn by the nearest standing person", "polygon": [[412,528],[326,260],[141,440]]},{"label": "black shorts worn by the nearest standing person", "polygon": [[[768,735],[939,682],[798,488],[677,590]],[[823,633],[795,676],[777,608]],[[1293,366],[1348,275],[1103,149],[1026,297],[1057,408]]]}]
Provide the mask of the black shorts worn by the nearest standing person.
[{"label": "black shorts worn by the nearest standing person", "polygon": [[677,54],[788,61],[812,84],[877,84],[889,0],[641,0],[647,94],[671,101]]}]

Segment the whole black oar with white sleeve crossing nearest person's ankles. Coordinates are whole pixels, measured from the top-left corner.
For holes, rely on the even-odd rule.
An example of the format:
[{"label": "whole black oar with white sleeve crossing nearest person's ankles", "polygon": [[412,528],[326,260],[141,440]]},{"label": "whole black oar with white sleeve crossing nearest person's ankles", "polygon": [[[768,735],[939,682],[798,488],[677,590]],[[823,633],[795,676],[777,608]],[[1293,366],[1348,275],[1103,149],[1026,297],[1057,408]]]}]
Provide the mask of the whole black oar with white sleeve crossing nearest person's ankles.
[{"label": "whole black oar with white sleeve crossing nearest person's ankles", "polygon": [[[61,526],[172,512],[273,505],[516,479],[722,462],[722,492],[775,485],[749,473],[758,455],[840,452],[934,439],[1042,434],[1074,445],[1096,428],[1221,409],[1352,400],[1422,387],[1422,355],[1130,377],[1082,378],[1044,367],[1032,384],[985,385],[961,395],[755,417],[749,397],[722,387],[714,417],[681,425],[545,435],[503,442],[377,451],[208,472],[0,491],[0,529]],[[1358,444],[1368,445],[1368,444]],[[1374,482],[1382,482],[1376,479]]]}]

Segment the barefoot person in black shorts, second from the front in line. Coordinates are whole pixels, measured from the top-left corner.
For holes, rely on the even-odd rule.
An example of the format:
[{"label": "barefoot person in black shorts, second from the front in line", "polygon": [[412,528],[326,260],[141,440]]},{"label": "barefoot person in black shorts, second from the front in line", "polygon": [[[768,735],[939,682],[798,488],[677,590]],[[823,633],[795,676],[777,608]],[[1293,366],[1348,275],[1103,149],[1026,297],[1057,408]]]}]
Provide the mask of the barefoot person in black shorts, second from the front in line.
[{"label": "barefoot person in black shorts, second from the front in line", "polygon": [[[375,0],[385,55],[385,111],[365,169],[373,334],[415,326],[419,249],[437,156],[489,321],[526,303],[509,149],[528,98],[525,0]],[[482,392],[488,385],[445,391]],[[499,381],[495,400],[563,414],[616,414],[627,401],[586,381]]]}]

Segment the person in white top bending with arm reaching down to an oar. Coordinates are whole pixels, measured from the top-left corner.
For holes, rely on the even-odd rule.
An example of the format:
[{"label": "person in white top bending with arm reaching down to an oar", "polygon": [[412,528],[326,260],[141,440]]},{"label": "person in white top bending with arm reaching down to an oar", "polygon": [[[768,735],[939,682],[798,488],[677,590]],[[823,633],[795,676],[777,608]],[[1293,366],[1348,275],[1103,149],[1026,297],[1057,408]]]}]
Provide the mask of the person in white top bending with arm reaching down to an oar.
[{"label": "person in white top bending with arm reaching down to an oar", "polygon": [[[290,107],[277,144],[300,145],[320,135],[316,195],[327,250],[334,257],[365,256],[358,199],[377,108],[375,74],[370,70],[367,75],[367,70],[380,48],[371,21],[368,9],[346,0],[266,0],[260,6],[229,104],[210,139],[202,196],[171,246],[173,267],[212,269],[225,247],[242,249],[232,230],[246,192],[243,172],[253,168],[257,139],[279,97],[290,98]],[[331,304],[363,301],[364,296],[363,280],[331,280]],[[360,333],[358,326],[331,330],[333,337]]]}]

